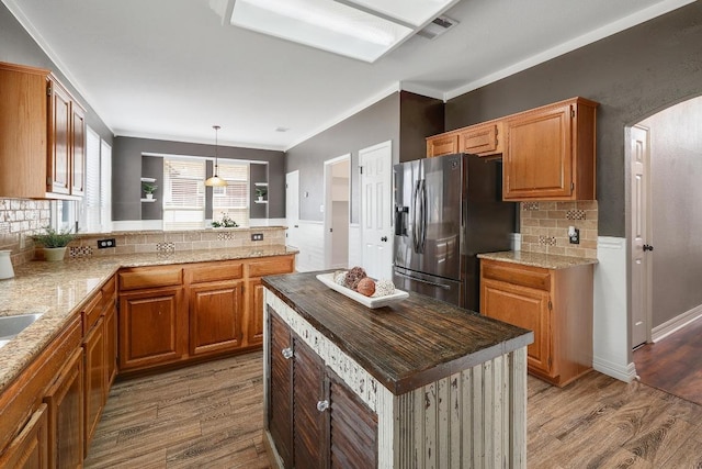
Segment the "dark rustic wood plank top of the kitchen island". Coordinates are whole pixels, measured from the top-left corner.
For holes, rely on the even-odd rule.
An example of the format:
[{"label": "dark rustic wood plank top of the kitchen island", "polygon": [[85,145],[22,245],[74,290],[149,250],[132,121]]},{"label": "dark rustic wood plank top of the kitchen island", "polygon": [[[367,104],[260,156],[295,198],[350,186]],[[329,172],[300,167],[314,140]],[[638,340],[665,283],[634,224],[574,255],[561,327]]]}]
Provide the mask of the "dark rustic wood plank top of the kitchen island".
[{"label": "dark rustic wood plank top of the kitchen island", "polygon": [[534,340],[531,331],[411,291],[371,310],[317,273],[270,276],[263,284],[396,395]]}]

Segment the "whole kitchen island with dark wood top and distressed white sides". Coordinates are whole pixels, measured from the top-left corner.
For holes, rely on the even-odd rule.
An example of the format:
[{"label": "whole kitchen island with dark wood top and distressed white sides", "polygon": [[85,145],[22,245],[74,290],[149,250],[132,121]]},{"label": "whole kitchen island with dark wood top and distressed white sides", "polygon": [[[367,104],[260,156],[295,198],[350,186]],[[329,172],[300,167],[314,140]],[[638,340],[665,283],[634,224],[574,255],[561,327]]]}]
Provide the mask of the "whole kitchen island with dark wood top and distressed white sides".
[{"label": "whole kitchen island with dark wood top and distressed white sides", "polygon": [[267,277],[264,443],[279,467],[526,466],[526,330],[410,292],[376,310]]}]

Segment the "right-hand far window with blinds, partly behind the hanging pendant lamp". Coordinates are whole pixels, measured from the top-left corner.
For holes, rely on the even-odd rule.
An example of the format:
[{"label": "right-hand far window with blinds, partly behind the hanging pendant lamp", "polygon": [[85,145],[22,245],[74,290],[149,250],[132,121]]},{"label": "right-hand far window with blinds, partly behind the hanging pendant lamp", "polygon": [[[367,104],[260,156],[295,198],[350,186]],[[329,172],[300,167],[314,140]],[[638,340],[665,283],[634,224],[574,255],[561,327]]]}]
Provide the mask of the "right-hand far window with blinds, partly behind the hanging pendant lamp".
[{"label": "right-hand far window with blinds, partly behind the hanging pendant lamp", "polygon": [[219,160],[218,176],[227,186],[213,188],[212,219],[226,213],[239,226],[249,226],[249,164]]}]

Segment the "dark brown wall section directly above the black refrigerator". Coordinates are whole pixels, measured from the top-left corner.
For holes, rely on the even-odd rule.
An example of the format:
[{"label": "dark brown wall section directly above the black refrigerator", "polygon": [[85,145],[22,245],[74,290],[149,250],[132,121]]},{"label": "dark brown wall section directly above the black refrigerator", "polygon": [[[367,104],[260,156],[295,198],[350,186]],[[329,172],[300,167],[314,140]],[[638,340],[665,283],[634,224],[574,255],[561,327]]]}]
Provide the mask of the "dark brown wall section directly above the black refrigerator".
[{"label": "dark brown wall section directly above the black refrigerator", "polygon": [[427,137],[444,131],[442,100],[400,91],[399,160],[411,161],[427,156]]}]

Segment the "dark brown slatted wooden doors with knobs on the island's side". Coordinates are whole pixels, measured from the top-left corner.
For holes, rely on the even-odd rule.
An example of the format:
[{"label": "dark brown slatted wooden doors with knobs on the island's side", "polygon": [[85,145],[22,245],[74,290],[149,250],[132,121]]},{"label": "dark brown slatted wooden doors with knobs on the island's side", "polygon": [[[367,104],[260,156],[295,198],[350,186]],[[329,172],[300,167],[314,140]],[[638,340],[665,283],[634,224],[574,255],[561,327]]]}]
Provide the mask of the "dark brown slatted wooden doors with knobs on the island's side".
[{"label": "dark brown slatted wooden doors with knobs on the island's side", "polygon": [[377,416],[275,313],[267,428],[283,467],[377,467]]}]

